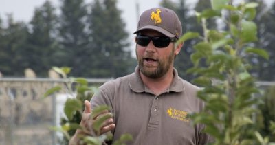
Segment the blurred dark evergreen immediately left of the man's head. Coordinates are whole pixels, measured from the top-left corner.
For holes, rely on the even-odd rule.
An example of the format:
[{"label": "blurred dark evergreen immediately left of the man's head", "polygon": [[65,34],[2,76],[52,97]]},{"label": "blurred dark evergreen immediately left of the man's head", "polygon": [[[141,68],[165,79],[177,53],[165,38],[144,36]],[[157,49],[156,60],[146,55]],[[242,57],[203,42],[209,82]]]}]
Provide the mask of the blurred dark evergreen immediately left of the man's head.
[{"label": "blurred dark evergreen immediately left of the man's head", "polygon": [[89,16],[93,64],[91,74],[97,77],[118,77],[133,71],[134,63],[127,47],[125,23],[116,0],[94,1]]}]

